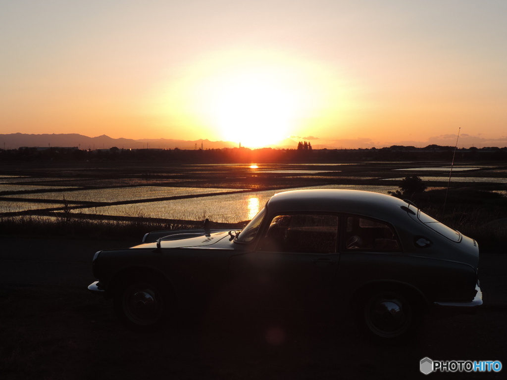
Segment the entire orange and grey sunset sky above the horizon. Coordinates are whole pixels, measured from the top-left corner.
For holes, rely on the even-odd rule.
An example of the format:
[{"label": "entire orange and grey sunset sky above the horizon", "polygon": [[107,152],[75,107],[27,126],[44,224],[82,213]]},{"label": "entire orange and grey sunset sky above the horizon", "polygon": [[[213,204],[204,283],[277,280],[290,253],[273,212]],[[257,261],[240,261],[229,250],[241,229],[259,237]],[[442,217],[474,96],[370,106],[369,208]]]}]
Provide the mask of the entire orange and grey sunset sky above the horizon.
[{"label": "entire orange and grey sunset sky above the horizon", "polygon": [[0,133],[507,146],[504,0],[0,2]]}]

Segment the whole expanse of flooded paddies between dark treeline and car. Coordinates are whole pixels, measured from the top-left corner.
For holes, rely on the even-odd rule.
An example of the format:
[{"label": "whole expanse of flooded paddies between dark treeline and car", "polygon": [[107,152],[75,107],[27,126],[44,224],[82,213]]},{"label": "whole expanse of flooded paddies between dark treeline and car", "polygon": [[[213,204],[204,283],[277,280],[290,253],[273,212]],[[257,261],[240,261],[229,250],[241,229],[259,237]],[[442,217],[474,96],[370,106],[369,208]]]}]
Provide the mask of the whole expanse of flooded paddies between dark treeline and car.
[{"label": "whole expanse of flooded paddies between dark treeline and car", "polygon": [[[419,166],[419,167],[418,167]],[[449,181],[450,167],[431,162],[322,164],[83,164],[81,167],[5,167],[0,170],[0,216],[63,210],[105,216],[240,222],[251,219],[275,193],[299,188],[359,189],[387,194],[399,189],[400,171],[428,188]],[[507,167],[455,165],[460,186],[498,186]],[[452,183],[451,182],[451,183]],[[47,214],[47,212],[46,212]]]}]

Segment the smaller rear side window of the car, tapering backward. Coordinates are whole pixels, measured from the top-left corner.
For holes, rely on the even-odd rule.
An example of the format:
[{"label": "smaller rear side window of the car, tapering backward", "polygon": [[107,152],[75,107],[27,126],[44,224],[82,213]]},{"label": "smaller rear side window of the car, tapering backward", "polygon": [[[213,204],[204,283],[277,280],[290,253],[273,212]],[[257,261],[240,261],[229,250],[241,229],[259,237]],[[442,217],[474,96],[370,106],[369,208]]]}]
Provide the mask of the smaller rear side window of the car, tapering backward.
[{"label": "smaller rear side window of the car, tapering backward", "polygon": [[401,245],[392,227],[384,222],[348,216],[345,248],[348,250],[400,251]]}]

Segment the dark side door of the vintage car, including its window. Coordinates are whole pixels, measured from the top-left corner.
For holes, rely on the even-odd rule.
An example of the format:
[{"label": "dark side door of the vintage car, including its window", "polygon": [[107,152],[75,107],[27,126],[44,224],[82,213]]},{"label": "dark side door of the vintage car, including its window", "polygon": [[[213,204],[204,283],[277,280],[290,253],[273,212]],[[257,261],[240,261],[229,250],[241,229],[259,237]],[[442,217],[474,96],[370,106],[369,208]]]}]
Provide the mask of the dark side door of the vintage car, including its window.
[{"label": "dark side door of the vintage car, including its window", "polygon": [[230,299],[239,306],[323,308],[335,289],[338,216],[271,218],[255,250],[229,259]]}]

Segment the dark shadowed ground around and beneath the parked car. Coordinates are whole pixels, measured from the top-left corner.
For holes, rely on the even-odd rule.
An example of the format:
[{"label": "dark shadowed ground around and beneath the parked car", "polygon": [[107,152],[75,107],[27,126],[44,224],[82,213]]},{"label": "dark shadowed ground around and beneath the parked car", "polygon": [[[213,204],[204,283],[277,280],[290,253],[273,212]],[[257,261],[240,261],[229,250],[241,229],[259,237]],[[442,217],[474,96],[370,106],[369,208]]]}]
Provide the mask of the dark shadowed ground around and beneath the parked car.
[{"label": "dark shadowed ground around and beneath the parked car", "polygon": [[346,317],[297,312],[185,318],[177,328],[125,329],[110,301],[86,290],[96,250],[126,242],[0,238],[0,378],[336,379],[505,378],[419,372],[419,361],[507,365],[507,254],[482,253],[484,307],[426,318],[409,343],[384,345]]}]

